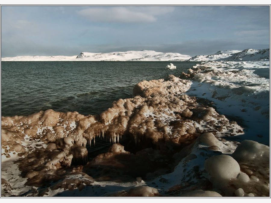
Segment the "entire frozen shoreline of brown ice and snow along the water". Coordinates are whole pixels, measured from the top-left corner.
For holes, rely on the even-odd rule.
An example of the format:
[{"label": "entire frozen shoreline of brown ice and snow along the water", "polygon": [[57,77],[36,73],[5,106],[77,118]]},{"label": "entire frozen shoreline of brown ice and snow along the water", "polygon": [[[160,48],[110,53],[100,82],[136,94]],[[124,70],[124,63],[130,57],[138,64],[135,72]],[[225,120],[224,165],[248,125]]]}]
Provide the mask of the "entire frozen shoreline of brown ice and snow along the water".
[{"label": "entire frozen shoreline of brown ice and snow along the water", "polygon": [[[267,62],[207,62],[184,79],[142,81],[134,88],[138,96],[115,102],[100,118],[52,110],[2,117],[2,165],[15,170],[2,168],[2,196],[268,196],[269,78],[259,71],[267,67]],[[246,71],[239,74],[240,69]],[[244,88],[248,81],[254,84]],[[220,114],[192,96],[212,101]],[[240,117],[243,126],[227,115]],[[135,154],[117,144],[128,134],[141,147]],[[85,146],[95,147],[95,137],[116,144],[86,163]],[[239,145],[236,138],[265,145]],[[130,174],[146,170],[133,165],[143,157],[158,170],[143,178],[122,172],[124,165]],[[73,158],[79,164],[69,168]],[[104,173],[91,177],[97,167]],[[40,186],[44,181],[49,186]]]}]

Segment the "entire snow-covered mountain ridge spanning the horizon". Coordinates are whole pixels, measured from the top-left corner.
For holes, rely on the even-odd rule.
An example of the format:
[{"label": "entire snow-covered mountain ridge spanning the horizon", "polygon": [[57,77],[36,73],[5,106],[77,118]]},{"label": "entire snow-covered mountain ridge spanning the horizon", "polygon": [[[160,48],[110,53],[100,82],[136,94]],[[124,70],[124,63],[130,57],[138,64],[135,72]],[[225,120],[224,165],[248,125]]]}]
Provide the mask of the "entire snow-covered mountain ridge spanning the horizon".
[{"label": "entire snow-covered mountain ridge spanning the horizon", "polygon": [[115,51],[109,53],[81,52],[75,56],[17,56],[1,58],[2,61],[259,61],[269,60],[266,49],[245,49],[243,51],[218,51],[211,55],[188,56],[179,53],[156,51]]}]

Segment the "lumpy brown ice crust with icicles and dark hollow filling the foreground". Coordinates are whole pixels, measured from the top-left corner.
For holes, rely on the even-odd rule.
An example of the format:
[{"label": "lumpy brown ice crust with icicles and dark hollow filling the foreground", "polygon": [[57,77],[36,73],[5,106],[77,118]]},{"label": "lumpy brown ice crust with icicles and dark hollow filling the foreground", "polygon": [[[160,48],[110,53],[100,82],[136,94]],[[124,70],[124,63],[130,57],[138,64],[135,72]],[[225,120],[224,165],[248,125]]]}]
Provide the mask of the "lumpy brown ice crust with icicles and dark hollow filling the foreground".
[{"label": "lumpy brown ice crust with icicles and dark hollow filling the foreground", "polygon": [[[2,167],[2,196],[268,196],[269,147],[249,143],[257,150],[239,166],[230,156],[238,143],[222,137],[243,128],[186,95],[190,86],[170,75],[138,83],[133,98],[100,115],[47,110],[2,117],[2,165],[20,170]],[[97,137],[113,145],[89,159]],[[223,164],[229,170],[220,170]]]}]

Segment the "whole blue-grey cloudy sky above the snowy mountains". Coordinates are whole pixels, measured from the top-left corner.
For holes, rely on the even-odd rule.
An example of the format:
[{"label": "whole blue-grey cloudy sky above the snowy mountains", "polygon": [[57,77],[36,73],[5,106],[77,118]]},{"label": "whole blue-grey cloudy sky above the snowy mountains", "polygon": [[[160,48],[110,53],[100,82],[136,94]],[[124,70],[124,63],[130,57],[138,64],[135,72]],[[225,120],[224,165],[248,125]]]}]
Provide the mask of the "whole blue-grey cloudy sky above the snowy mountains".
[{"label": "whole blue-grey cloudy sky above the snowy mountains", "polygon": [[2,57],[269,48],[269,6],[1,6]]}]

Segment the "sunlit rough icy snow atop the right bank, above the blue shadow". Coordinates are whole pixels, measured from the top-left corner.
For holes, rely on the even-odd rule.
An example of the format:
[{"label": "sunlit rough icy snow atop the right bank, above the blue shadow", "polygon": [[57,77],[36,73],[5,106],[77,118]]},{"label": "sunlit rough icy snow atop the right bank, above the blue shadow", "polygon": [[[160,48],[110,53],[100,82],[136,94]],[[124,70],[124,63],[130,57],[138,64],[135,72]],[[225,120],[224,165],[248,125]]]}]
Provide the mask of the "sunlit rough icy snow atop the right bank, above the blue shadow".
[{"label": "sunlit rough icy snow atop the right bank, above the blue shadow", "polygon": [[269,91],[269,61],[204,62],[183,73],[186,78],[223,88],[238,88],[238,93]]}]

